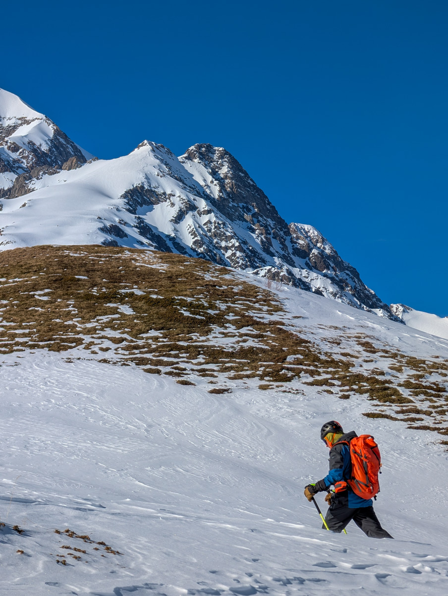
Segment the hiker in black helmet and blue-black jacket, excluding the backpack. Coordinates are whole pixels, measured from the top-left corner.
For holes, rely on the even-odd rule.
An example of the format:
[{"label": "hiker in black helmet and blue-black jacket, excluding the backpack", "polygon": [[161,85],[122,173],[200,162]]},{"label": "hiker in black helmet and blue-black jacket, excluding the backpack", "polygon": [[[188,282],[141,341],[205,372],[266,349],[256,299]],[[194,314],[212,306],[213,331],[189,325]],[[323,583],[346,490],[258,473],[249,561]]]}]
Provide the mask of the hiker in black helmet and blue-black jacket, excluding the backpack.
[{"label": "hiker in black helmet and blue-black jacket, excluding the backpack", "polygon": [[[328,492],[328,495],[325,496],[325,501],[327,501],[330,507],[325,516],[325,522],[328,529],[333,532],[342,532],[346,525],[351,520],[354,520],[356,525],[369,538],[393,538],[389,532],[386,532],[381,527],[380,522],[378,522],[372,506],[372,499],[365,499],[357,495],[347,483],[347,481],[352,480],[352,486],[354,486],[349,443],[356,437],[358,435],[354,431],[344,434],[342,426],[335,420],[331,420],[322,426],[321,439],[330,448],[330,459],[328,460],[330,462],[330,471],[319,482],[306,486],[305,496],[308,501],[312,501],[316,493],[321,491]],[[334,492],[332,493],[328,490],[331,485],[334,485]],[[379,486],[377,488],[378,490]]]}]

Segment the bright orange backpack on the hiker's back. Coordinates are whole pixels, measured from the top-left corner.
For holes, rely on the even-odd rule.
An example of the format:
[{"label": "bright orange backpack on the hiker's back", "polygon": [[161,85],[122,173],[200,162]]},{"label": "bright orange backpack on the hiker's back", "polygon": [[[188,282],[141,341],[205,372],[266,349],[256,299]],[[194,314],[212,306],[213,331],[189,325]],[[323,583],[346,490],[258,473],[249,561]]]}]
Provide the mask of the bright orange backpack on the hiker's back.
[{"label": "bright orange backpack on the hiker's back", "polygon": [[[345,441],[344,441],[345,442]],[[361,434],[347,442],[352,458],[352,477],[347,480],[352,491],[362,499],[375,498],[380,492],[381,455],[374,437]]]}]

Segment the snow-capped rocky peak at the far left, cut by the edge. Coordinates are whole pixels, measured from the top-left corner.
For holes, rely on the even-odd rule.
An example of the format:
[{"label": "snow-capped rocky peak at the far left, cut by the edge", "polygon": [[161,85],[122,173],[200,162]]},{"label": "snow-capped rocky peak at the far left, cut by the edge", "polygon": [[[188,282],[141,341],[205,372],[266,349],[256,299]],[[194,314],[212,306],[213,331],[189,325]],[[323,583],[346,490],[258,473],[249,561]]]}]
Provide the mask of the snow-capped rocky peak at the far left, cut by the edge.
[{"label": "snow-capped rocky peak at the far left, cut by the edge", "polygon": [[92,157],[49,118],[0,89],[0,198],[29,193],[33,178]]}]

